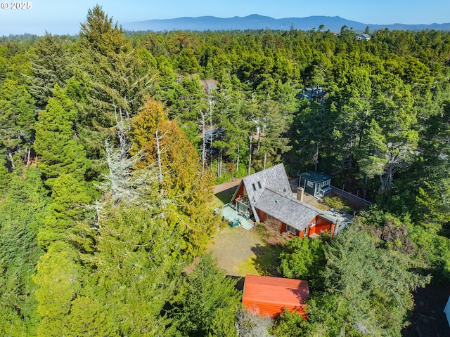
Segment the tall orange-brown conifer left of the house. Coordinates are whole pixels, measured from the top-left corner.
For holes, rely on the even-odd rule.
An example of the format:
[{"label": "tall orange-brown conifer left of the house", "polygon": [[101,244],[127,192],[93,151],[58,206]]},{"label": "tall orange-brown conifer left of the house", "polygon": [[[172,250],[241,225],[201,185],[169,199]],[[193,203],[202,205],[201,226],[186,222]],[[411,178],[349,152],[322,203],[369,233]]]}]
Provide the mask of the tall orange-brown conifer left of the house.
[{"label": "tall orange-brown conifer left of the house", "polygon": [[131,121],[133,149],[141,151],[136,165],[153,164],[158,172],[158,188],[167,200],[170,225],[180,227],[189,254],[201,249],[209,237],[214,220],[203,208],[212,196],[210,179],[201,171],[200,158],[176,121],[169,120],[162,103],[148,100]]}]

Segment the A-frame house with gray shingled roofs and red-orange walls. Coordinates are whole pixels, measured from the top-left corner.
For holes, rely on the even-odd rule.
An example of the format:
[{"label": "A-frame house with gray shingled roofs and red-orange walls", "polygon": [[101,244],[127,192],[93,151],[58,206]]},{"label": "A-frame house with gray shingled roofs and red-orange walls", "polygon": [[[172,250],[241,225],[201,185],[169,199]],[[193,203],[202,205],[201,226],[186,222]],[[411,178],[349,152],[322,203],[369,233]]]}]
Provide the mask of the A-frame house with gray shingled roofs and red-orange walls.
[{"label": "A-frame house with gray shingled roofs and red-orange walls", "polygon": [[243,178],[230,204],[255,221],[275,225],[281,232],[314,237],[335,231],[337,220],[304,201],[293,197],[283,164]]}]

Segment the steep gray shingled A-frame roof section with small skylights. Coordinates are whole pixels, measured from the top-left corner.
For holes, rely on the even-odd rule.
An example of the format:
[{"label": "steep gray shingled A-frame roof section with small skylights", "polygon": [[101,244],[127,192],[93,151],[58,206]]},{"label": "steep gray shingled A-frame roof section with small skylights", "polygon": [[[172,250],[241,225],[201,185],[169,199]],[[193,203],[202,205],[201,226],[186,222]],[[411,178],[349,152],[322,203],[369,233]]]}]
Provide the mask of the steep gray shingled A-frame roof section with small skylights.
[{"label": "steep gray shingled A-frame roof section with small skylights", "polygon": [[264,189],[269,188],[270,190],[285,195],[291,195],[292,193],[283,164],[278,164],[269,169],[253,173],[250,176],[243,178],[242,181],[245,190],[247,190],[250,204],[252,205],[253,215],[257,221],[259,221],[259,216],[255,210],[255,203],[259,200],[259,197],[261,197]]}]

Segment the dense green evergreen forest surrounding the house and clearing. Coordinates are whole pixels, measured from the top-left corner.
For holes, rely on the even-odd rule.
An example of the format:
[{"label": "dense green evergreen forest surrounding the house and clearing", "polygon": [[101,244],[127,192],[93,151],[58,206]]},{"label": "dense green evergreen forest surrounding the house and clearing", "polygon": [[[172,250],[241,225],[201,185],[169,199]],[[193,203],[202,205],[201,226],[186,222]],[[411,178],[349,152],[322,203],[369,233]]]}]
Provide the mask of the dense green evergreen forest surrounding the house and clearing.
[{"label": "dense green evergreen forest surrounding the house and clearing", "polygon": [[[450,32],[368,33],[131,33],[96,6],[0,39],[0,335],[401,336],[450,285]],[[373,201],[281,254],[307,321],[245,312],[204,254],[214,181],[279,162]]]}]

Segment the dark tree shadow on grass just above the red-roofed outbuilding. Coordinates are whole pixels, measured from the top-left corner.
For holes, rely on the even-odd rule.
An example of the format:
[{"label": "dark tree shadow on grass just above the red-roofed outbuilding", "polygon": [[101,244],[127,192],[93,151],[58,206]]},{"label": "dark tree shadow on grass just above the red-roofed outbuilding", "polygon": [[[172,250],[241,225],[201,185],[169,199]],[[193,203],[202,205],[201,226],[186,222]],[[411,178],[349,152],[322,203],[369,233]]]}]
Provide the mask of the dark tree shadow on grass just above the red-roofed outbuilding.
[{"label": "dark tree shadow on grass just above the red-roofed outbuilding", "polygon": [[283,251],[283,246],[280,244],[256,244],[252,247],[255,258],[252,258],[252,263],[255,266],[259,275],[262,276],[281,276],[277,268],[280,264],[280,253]]}]

